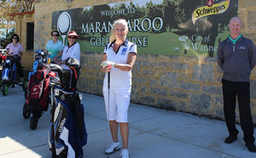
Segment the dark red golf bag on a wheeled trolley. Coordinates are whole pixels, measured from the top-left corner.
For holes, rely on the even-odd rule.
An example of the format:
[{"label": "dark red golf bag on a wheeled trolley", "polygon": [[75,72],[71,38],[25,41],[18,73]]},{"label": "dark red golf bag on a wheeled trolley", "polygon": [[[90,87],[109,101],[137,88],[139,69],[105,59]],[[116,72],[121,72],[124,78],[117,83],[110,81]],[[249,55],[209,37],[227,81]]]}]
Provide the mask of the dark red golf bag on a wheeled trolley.
[{"label": "dark red golf bag on a wheeled trolley", "polygon": [[35,71],[28,82],[26,103],[23,106],[23,116],[29,118],[31,129],[36,129],[38,120],[43,111],[49,107],[49,68],[44,66],[42,69]]}]

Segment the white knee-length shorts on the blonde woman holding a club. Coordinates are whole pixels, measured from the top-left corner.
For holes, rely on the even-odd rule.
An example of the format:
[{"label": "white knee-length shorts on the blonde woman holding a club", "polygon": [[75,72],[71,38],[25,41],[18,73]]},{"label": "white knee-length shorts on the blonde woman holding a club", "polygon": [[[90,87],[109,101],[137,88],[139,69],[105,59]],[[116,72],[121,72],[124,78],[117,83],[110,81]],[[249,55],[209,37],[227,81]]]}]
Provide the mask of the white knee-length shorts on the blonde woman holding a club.
[{"label": "white knee-length shorts on the blonde woman holding a club", "polygon": [[[128,108],[131,98],[131,87],[110,87],[108,108],[108,87],[103,87],[103,95],[109,121],[128,122]],[[108,113],[109,109],[109,113]]]}]

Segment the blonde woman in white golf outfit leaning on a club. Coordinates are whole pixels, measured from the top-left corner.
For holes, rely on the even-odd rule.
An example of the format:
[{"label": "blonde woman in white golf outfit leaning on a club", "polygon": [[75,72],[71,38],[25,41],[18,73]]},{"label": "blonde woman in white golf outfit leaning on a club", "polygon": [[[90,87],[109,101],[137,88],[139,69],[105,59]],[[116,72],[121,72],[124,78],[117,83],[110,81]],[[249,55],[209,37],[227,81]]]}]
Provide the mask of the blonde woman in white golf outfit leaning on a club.
[{"label": "blonde woman in white golf outfit leaning on a club", "polygon": [[128,108],[131,97],[131,69],[137,59],[137,45],[126,40],[128,24],[120,19],[113,23],[110,42],[104,49],[101,70],[106,72],[103,82],[103,95],[107,119],[113,143],[105,151],[111,154],[120,150],[118,128],[120,127],[123,150],[122,158],[129,158]]}]

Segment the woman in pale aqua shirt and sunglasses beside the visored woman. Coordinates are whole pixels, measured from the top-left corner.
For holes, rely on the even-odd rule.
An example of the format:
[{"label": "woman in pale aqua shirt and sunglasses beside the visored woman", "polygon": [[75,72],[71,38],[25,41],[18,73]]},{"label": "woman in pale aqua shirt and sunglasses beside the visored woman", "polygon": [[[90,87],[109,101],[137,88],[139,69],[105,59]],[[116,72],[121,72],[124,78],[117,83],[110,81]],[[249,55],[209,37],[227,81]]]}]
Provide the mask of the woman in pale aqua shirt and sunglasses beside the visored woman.
[{"label": "woman in pale aqua shirt and sunglasses beside the visored woman", "polygon": [[58,40],[59,31],[51,31],[52,40],[48,41],[45,46],[45,53],[50,53],[50,59],[56,63],[61,63],[61,55],[63,52],[63,43]]}]

